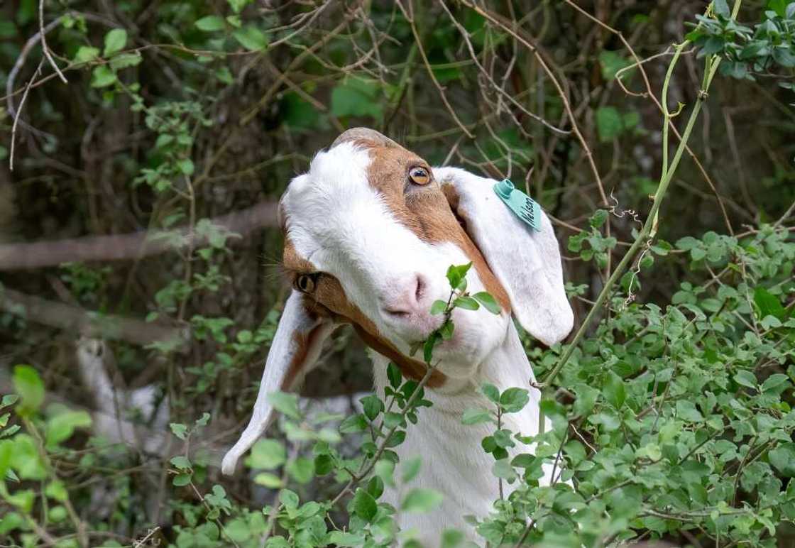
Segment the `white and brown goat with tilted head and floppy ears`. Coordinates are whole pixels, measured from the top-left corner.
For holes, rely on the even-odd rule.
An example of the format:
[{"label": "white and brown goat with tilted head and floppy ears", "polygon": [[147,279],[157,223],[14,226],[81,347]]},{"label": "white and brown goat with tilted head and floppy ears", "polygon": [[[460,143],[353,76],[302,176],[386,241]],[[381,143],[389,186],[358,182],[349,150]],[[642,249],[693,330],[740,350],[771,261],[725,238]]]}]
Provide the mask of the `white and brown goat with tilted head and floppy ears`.
[{"label": "white and brown goat with tilted head and floppy ears", "polygon": [[[479,391],[492,383],[501,391],[528,387],[533,371],[511,311],[525,330],[551,345],[568,335],[574,316],[564,292],[560,250],[549,219],[531,231],[502,204],[495,181],[458,168],[431,167],[374,130],[356,128],[339,136],[295,177],[281,198],[284,263],[293,278],[273,346],[266,360],[254,413],[239,441],[223,458],[235,471],[238,458],[262,435],[273,409],[267,394],[291,387],[312,367],[335,325],[353,325],[372,348],[374,383],[386,387],[386,364],[420,379],[425,364],[409,348],[442,321],[429,313],[446,300],[448,266],[471,262],[468,290],[488,291],[502,307],[454,310],[455,332],[434,350],[439,360],[417,426],[397,448],[402,457],[424,455],[417,483],[444,494],[437,511],[400,515],[421,541],[436,544],[448,527],[475,532],[463,515],[487,515],[498,499],[493,458],[480,440],[491,426],[463,426],[463,410],[487,406]],[[538,431],[539,392],[506,427],[524,435]],[[517,448],[517,452],[528,448]],[[547,471],[549,474],[549,470]],[[549,478],[548,478],[549,480]],[[386,502],[398,507],[397,493]]]}]

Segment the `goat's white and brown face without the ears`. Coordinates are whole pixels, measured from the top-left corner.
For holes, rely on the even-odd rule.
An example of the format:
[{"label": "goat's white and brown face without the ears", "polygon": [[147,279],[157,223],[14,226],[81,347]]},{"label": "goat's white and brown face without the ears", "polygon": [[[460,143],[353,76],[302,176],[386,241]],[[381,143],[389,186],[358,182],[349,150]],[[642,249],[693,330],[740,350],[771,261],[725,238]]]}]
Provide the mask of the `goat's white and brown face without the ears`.
[{"label": "goat's white and brown face without the ears", "polygon": [[506,292],[416,154],[375,137],[339,142],[290,183],[281,215],[285,267],[310,313],[352,323],[405,375],[424,369],[409,349],[443,321],[430,309],[448,300],[452,264],[472,262],[469,290],[488,291],[504,310],[456,309],[452,339],[434,352],[439,370],[467,377],[502,343],[510,321]]}]

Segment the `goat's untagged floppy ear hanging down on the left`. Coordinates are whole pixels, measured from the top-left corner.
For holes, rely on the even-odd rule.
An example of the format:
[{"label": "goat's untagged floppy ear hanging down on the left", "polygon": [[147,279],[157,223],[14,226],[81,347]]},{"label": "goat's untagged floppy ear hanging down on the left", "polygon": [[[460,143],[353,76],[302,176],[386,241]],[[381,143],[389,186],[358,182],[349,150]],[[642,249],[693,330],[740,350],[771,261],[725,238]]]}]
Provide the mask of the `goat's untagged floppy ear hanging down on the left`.
[{"label": "goat's untagged floppy ear hanging down on the left", "polygon": [[276,328],[276,336],[270,345],[262,382],[259,385],[257,402],[251,420],[240,435],[240,439],[223,457],[221,472],[230,475],[235,472],[235,464],[246,453],[258,437],[270,426],[273,420],[273,406],[268,402],[268,394],[290,387],[305,375],[316,363],[323,347],[323,341],[334,330],[332,321],[313,317],[307,312],[304,296],[293,291],[285,303],[281,320]]}]

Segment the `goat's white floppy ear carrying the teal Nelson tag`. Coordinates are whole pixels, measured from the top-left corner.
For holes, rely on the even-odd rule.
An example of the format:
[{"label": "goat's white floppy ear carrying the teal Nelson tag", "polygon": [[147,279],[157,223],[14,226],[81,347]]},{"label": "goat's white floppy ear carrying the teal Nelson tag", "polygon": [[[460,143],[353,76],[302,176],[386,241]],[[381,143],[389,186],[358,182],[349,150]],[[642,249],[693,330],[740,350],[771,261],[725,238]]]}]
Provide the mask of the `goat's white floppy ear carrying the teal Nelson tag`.
[{"label": "goat's white floppy ear carrying the teal Nelson tag", "polygon": [[497,181],[459,168],[436,168],[450,207],[505,287],[514,315],[542,343],[563,340],[574,313],[563,286],[560,249],[541,212],[541,231],[519,220],[494,193]]}]

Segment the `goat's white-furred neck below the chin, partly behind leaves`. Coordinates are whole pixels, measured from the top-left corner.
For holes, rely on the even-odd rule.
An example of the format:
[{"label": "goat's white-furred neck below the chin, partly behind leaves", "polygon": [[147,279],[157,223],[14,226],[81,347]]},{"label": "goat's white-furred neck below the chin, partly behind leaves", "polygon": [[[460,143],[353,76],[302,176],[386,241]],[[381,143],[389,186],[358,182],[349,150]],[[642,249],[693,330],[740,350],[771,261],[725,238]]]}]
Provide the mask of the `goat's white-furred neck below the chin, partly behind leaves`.
[{"label": "goat's white-furred neck below the chin, partly behind leaves", "polygon": [[[376,388],[383,394],[388,360],[377,356],[374,361]],[[421,531],[421,540],[426,546],[438,545],[445,527],[466,531],[469,540],[480,543],[482,539],[463,521],[463,516],[488,515],[492,503],[500,496],[498,480],[491,472],[494,458],[480,445],[483,437],[494,433],[496,427],[490,422],[463,425],[461,416],[471,407],[494,409],[494,404],[480,391],[483,383],[491,383],[501,392],[510,387],[523,387],[530,391],[530,401],[521,412],[504,415],[502,427],[525,436],[536,434],[540,393],[530,387],[530,380],[534,380],[533,371],[516,328],[510,325],[505,340],[479,364],[474,378],[446,383],[442,390],[425,391],[425,398],[432,401],[433,406],[421,409],[419,422],[409,425],[405,442],[396,448],[401,461],[422,457],[420,473],[412,484],[387,492],[386,499],[397,507],[409,488],[424,487],[441,492],[444,501],[438,510],[429,514],[404,513],[399,520],[401,528]],[[532,451],[518,441],[516,445],[510,453]],[[504,488],[510,490],[507,484]]]}]

